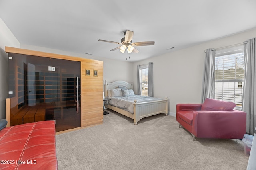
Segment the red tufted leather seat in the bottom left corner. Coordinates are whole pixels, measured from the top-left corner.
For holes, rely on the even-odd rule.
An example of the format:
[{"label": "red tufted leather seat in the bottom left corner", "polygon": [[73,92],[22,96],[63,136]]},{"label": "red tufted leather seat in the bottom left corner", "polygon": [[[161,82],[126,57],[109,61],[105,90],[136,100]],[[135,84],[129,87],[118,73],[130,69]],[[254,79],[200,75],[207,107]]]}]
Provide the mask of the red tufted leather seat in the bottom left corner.
[{"label": "red tufted leather seat in the bottom left corner", "polygon": [[56,170],[55,122],[40,121],[0,130],[0,170]]}]

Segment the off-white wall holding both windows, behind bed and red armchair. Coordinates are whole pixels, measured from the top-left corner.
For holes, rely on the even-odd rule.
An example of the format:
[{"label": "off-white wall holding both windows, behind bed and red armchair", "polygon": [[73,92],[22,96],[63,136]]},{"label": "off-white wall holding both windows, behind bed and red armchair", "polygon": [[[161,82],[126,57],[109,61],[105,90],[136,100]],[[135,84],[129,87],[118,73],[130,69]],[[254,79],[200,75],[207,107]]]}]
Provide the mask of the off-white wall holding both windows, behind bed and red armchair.
[{"label": "off-white wall holding both windows, behind bed and red armchair", "polygon": [[[256,37],[256,29],[230,35],[186,49],[152,57],[133,64],[134,77],[137,65],[153,62],[154,97],[167,96],[170,115],[176,115],[178,103],[201,103],[204,50],[242,43]],[[134,78],[134,84],[137,84]],[[137,87],[134,86],[137,92]]]}]

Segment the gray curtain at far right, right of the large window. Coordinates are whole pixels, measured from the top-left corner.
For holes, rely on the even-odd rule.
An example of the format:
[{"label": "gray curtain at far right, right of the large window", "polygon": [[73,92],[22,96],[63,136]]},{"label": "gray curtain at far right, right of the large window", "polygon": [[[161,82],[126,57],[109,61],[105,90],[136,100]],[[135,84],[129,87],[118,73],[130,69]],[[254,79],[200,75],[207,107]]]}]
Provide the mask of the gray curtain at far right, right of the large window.
[{"label": "gray curtain at far right, right of the large window", "polygon": [[246,133],[256,133],[256,61],[255,61],[255,39],[249,39],[244,45],[244,94],[242,111],[247,113]]}]

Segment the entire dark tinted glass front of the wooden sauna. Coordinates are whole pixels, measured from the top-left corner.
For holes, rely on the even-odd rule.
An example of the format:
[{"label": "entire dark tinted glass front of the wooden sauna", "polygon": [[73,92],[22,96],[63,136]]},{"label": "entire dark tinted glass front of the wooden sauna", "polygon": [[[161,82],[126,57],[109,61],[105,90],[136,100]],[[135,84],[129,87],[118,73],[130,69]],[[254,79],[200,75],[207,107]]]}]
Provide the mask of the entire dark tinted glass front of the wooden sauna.
[{"label": "entire dark tinted glass front of the wooden sauna", "polygon": [[80,62],[9,53],[11,125],[55,120],[56,131],[81,126]]}]

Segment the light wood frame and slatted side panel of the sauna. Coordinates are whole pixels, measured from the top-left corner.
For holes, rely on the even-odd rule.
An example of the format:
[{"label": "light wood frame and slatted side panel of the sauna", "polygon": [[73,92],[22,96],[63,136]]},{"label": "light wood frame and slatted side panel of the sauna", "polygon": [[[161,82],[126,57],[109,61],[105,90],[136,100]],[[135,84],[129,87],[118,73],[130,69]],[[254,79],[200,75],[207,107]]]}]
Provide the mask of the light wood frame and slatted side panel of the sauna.
[{"label": "light wood frame and slatted side panel of the sauna", "polygon": [[[81,127],[89,127],[103,122],[103,61],[58,55],[40,51],[32,51],[13,47],[5,47],[7,53],[34,55],[54,59],[64,59],[81,62]],[[90,76],[86,76],[90,69]],[[98,70],[98,76],[94,76]],[[6,117],[10,118],[10,99],[7,99]],[[77,128],[75,128],[77,129]],[[70,130],[68,130],[70,131]]]}]

